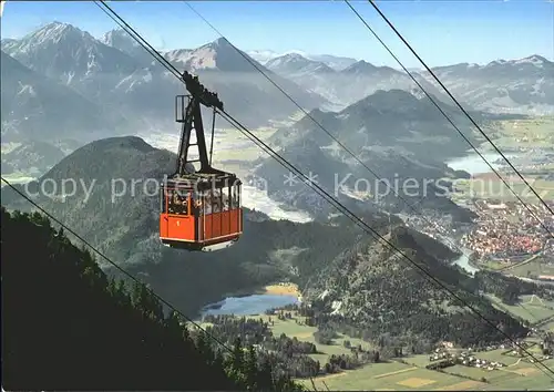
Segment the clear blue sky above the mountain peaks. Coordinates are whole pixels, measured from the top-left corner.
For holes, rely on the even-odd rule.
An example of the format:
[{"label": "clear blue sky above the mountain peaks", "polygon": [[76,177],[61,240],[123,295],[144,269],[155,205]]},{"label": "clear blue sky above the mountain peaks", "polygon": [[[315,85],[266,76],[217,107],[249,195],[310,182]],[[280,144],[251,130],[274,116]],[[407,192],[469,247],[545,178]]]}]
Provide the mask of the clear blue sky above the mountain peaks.
[{"label": "clear blue sky above the mountain peaks", "polygon": [[[244,51],[299,50],[398,68],[345,1],[189,1]],[[196,48],[220,35],[185,1],[110,1],[107,4],[160,50]],[[421,64],[368,1],[351,1],[406,66]],[[485,64],[540,54],[554,61],[553,0],[383,0],[381,11],[428,65]],[[51,21],[100,38],[116,28],[92,1],[8,1],[2,38],[21,38]]]}]

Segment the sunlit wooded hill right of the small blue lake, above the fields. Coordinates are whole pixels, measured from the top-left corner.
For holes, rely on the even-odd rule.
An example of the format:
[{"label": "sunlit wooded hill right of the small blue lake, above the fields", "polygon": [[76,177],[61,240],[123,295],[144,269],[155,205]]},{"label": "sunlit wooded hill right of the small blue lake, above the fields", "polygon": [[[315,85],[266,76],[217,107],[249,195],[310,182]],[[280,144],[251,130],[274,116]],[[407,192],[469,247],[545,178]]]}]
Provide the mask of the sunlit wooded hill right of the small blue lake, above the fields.
[{"label": "sunlit wooded hill right of the small blue lake, above the fields", "polygon": [[[478,295],[479,279],[441,262],[410,231],[399,227],[388,238],[505,333],[513,338],[526,334],[520,321]],[[484,285],[479,288],[491,289]],[[320,329],[352,337],[377,341],[386,336],[404,344],[442,340],[462,347],[505,339],[402,256],[375,240],[362,239],[337,257],[311,280],[307,292],[319,312],[316,317]]]}]

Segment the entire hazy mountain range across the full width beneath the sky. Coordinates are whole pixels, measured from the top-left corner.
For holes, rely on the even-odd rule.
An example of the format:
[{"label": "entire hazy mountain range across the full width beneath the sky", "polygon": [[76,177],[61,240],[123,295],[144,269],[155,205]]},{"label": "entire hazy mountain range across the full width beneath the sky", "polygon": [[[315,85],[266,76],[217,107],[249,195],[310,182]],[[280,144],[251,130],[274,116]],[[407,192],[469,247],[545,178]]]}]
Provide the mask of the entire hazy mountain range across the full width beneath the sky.
[{"label": "entire hazy mountain range across the full width beneath the sky", "polygon": [[[96,39],[52,22],[21,39],[2,40],[1,49],[6,141],[52,141],[78,133],[73,138],[82,145],[98,138],[88,137],[93,133],[107,137],[138,130],[176,131],[174,95],[184,93],[183,85],[121,29]],[[162,55],[178,70],[198,74],[247,126],[286,120],[298,111],[253,64],[305,110],[340,111],[379,90],[422,96],[404,73],[363,60],[298,51],[248,53],[218,39]],[[553,70],[552,62],[533,55],[433,72],[475,110],[552,113]],[[438,100],[450,102],[425,72],[413,75]]]}]

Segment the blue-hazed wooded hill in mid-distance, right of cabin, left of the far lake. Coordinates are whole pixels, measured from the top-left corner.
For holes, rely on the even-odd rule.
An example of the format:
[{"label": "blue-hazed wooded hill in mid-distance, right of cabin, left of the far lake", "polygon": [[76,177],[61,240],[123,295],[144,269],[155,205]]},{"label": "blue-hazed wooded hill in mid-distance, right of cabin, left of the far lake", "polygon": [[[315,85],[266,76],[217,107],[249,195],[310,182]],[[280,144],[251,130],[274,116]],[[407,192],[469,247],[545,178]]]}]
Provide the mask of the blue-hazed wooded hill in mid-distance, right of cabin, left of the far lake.
[{"label": "blue-hazed wooded hill in mid-distance, right of cabin, left of the far lake", "polygon": [[[449,106],[447,112],[454,122],[464,124],[453,107]],[[466,144],[425,99],[401,90],[379,91],[341,112],[315,110],[310,115],[367,167],[387,179],[409,204],[418,203],[434,213],[451,214],[456,221],[469,221],[473,216],[445,197],[449,182],[464,174],[450,169],[443,161],[464,154]],[[316,122],[305,116],[277,131],[270,142],[304,173],[317,175],[318,184],[340,197],[349,208],[371,209],[378,205],[392,213],[413,213]],[[461,131],[470,141],[476,141],[470,127],[461,126]],[[260,161],[256,175],[268,182],[274,197],[310,212],[319,208],[315,193],[299,180],[284,183],[288,173],[273,158]],[[403,184],[410,188],[407,190]],[[356,200],[346,195],[346,190],[365,193],[368,199]],[[321,215],[329,213],[332,210],[326,206]]]}]

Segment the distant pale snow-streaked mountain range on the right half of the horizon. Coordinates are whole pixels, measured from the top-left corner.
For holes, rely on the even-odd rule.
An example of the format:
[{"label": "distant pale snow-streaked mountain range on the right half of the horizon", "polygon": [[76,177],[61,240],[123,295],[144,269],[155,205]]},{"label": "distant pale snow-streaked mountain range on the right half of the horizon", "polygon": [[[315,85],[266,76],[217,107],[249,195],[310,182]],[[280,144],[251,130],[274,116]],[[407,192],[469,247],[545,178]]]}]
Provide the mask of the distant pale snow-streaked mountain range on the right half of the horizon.
[{"label": "distant pale snow-streaked mountain range on the right half of the horizon", "polygon": [[[401,89],[422,94],[404,72],[376,66],[363,60],[337,68],[331,66],[329,61],[294,52],[273,56],[265,65],[342,107],[378,90]],[[454,64],[431,71],[455,97],[475,110],[554,113],[554,63],[543,56],[534,54],[519,60],[497,60],[486,65]],[[411,71],[411,74],[427,92],[440,101],[451,102],[429,72]]]}]

